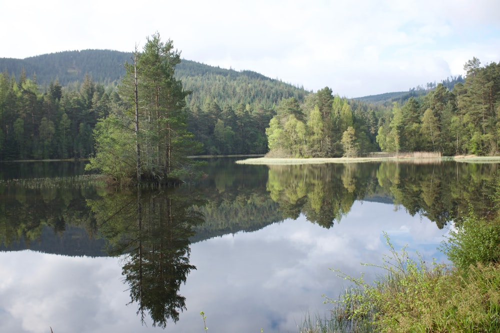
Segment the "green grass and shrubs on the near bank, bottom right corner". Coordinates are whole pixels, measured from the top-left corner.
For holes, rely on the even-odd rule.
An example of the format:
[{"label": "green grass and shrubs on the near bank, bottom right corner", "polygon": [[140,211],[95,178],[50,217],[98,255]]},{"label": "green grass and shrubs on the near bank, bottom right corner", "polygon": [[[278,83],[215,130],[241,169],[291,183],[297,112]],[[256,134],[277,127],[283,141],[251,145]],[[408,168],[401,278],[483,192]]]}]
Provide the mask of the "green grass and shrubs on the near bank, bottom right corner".
[{"label": "green grass and shrubs on the near bank, bottom right corner", "polygon": [[330,318],[304,321],[300,332],[500,332],[500,265],[451,268],[427,263],[406,249],[382,259],[385,274],[373,283],[351,283],[332,304]]}]

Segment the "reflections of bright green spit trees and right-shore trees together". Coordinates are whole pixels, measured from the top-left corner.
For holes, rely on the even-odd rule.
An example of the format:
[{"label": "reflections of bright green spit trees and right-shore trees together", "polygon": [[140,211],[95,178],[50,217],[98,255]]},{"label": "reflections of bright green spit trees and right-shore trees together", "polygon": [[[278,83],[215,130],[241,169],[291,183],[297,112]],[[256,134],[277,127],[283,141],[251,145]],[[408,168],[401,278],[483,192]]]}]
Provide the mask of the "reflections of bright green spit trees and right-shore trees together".
[{"label": "reflections of bright green spit trees and right-shore trees together", "polygon": [[469,207],[491,212],[497,164],[443,162],[348,163],[269,166],[267,191],[283,218],[299,214],[325,228],[346,215],[355,200],[386,198],[443,228]]}]

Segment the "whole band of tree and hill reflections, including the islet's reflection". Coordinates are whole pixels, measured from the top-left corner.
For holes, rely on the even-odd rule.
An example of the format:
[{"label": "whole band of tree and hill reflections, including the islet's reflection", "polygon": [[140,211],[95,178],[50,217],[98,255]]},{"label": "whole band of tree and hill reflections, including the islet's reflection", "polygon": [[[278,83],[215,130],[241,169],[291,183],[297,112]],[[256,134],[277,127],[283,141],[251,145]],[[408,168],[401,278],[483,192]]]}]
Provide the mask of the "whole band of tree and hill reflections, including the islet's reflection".
[{"label": "whole band of tree and hill reflections, including the islet's reflection", "polygon": [[267,167],[222,159],[209,163],[196,191],[106,191],[64,178],[0,180],[0,250],[121,256],[123,282],[140,320],[150,316],[164,328],[185,309],[179,289],[195,269],[190,241],[254,231],[301,214],[331,228],[356,200],[391,204],[443,228],[459,223],[470,208],[480,217],[491,214],[497,169],[494,163],[456,162]]}]

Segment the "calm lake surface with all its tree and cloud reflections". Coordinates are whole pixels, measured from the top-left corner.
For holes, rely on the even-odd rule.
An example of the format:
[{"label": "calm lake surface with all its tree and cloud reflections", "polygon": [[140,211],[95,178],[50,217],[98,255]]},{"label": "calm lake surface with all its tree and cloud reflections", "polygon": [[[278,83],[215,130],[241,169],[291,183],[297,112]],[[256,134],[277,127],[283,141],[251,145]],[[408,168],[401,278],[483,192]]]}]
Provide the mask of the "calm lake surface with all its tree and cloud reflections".
[{"label": "calm lake surface with all its tree and cloud reflections", "polygon": [[[297,332],[396,249],[438,262],[497,164],[245,166],[196,184],[111,191],[82,164],[0,164],[0,332]],[[39,180],[55,177],[53,182]],[[16,180],[12,180],[16,179]],[[72,185],[68,185],[72,184]]]}]

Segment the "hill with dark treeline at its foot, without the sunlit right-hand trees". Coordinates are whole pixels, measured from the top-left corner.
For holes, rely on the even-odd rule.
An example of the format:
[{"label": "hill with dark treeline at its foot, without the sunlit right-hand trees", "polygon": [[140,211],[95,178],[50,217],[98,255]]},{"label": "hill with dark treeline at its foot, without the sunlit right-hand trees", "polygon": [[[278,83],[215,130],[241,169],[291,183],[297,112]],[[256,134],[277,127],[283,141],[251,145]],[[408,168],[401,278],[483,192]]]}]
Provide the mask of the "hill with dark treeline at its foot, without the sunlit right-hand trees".
[{"label": "hill with dark treeline at its foot, without the sunlit right-hand trees", "polygon": [[[125,108],[116,85],[130,56],[86,50],[0,59],[4,67],[0,74],[0,160],[93,154],[92,131],[98,119]],[[184,108],[187,130],[203,143],[201,153],[205,154],[265,153],[265,127],[275,105],[292,96],[302,100],[309,93],[252,71],[188,60],[175,67],[175,78],[191,91]]]}]

